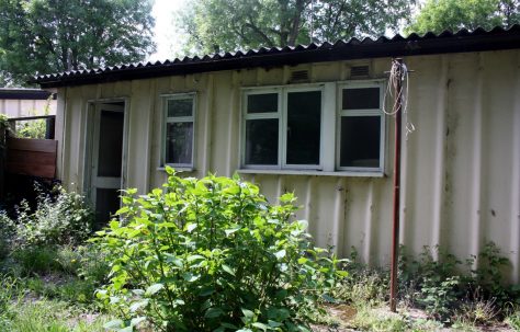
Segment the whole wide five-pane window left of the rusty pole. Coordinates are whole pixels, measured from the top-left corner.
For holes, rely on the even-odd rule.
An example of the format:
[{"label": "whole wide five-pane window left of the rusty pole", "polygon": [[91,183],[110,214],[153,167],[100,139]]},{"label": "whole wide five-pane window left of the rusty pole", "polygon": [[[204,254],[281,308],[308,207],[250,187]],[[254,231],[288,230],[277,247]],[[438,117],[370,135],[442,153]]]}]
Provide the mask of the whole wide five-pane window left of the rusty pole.
[{"label": "whole wide five-pane window left of the rusty pole", "polygon": [[382,174],[383,81],[245,89],[242,169]]}]

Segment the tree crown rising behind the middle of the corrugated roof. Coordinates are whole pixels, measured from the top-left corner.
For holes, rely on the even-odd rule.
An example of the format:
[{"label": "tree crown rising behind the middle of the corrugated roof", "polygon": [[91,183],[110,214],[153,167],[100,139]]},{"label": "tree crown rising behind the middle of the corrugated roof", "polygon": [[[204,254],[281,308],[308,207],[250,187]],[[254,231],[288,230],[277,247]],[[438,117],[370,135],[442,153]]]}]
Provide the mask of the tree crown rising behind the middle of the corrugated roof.
[{"label": "tree crown rising behind the middle of the corrugated roof", "polygon": [[178,18],[186,49],[219,51],[374,36],[396,30],[409,0],[193,0]]}]

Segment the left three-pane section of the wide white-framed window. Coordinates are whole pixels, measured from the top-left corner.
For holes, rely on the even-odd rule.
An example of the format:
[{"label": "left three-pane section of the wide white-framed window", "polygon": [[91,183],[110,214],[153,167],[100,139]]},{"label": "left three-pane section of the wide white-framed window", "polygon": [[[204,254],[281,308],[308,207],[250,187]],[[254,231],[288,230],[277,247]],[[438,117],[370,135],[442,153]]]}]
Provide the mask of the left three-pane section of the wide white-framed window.
[{"label": "left three-pane section of the wide white-framed window", "polygon": [[321,94],[321,87],[246,92],[242,165],[320,169]]}]

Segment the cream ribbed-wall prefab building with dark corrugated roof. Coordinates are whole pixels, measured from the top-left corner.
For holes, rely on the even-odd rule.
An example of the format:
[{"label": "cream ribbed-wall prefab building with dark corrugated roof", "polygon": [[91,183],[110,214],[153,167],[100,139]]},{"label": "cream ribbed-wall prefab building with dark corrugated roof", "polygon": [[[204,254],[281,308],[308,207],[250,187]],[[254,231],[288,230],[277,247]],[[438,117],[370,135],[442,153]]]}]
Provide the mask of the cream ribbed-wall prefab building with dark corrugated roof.
[{"label": "cream ribbed-wall prefab building with dark corrugated roof", "polygon": [[320,247],[389,261],[392,58],[409,69],[400,241],[464,259],[494,241],[520,282],[520,26],[261,48],[36,78],[57,88],[58,175],[100,214],[117,190],[239,173],[294,191]]}]

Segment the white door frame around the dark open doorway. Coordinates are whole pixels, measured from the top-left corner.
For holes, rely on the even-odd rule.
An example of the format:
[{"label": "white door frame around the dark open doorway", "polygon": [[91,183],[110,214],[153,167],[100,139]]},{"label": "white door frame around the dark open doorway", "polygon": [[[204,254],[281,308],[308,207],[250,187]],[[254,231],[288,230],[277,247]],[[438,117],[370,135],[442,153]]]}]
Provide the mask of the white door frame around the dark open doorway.
[{"label": "white door frame around the dark open doorway", "polygon": [[95,110],[100,104],[105,103],[123,103],[123,151],[121,160],[121,188],[127,186],[127,156],[128,156],[128,114],[129,114],[129,99],[128,98],[112,98],[112,99],[97,99],[87,101],[86,112],[86,130],[84,130],[84,153],[83,153],[83,183],[82,188],[86,197],[90,201],[95,209],[94,193],[92,191],[92,164],[94,152],[94,137],[99,133],[100,114]]}]

